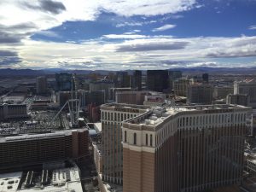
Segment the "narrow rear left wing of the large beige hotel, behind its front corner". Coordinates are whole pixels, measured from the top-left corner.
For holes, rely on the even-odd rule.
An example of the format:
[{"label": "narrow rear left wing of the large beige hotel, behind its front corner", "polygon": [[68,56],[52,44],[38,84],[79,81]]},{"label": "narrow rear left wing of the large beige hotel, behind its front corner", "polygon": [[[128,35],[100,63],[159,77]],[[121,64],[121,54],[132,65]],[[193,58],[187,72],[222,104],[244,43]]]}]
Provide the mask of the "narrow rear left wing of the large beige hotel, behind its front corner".
[{"label": "narrow rear left wing of the large beige hotel, behind its front corner", "polygon": [[121,124],[147,110],[145,106],[104,104],[102,121],[102,180],[123,183],[123,148]]}]

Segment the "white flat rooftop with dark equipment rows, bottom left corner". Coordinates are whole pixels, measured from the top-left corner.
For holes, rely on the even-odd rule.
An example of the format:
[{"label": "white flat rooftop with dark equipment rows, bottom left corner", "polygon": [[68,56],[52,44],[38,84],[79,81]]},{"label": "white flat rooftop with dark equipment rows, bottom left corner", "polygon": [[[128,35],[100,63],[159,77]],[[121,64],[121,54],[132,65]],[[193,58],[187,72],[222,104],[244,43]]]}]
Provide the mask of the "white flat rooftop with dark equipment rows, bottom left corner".
[{"label": "white flat rooftop with dark equipment rows, bottom left corner", "polygon": [[[78,166],[73,165],[54,170],[0,174],[0,192],[83,192],[79,172]],[[26,177],[31,177],[29,184]]]}]

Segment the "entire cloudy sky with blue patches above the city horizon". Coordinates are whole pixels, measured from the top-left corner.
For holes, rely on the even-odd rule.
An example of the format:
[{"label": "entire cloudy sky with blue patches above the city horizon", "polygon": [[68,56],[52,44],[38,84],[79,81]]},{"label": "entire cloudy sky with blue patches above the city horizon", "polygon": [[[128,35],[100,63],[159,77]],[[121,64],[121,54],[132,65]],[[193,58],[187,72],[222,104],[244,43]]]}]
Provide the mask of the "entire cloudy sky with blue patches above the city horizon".
[{"label": "entire cloudy sky with blue patches above the city horizon", "polygon": [[0,68],[256,67],[256,0],[1,0]]}]

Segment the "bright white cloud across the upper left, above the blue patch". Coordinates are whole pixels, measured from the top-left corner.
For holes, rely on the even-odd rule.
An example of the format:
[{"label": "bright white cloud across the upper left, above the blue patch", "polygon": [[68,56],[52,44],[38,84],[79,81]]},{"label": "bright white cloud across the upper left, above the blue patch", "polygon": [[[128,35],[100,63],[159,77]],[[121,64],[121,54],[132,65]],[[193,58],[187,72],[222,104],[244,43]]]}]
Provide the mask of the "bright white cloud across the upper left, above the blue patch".
[{"label": "bright white cloud across the upper left, above the blue patch", "polygon": [[[96,20],[102,11],[120,16],[176,14],[193,9],[196,0],[2,0],[0,6],[0,44],[20,44],[32,34],[55,36],[50,28],[67,20]],[[15,13],[15,14],[14,14]],[[125,22],[117,26],[142,26],[156,22]],[[7,37],[1,41],[2,36]]]}]

